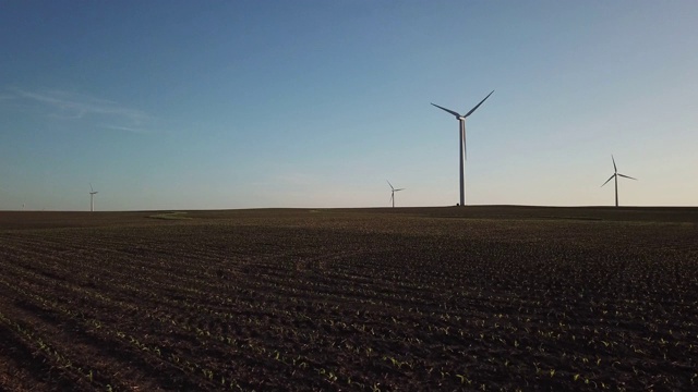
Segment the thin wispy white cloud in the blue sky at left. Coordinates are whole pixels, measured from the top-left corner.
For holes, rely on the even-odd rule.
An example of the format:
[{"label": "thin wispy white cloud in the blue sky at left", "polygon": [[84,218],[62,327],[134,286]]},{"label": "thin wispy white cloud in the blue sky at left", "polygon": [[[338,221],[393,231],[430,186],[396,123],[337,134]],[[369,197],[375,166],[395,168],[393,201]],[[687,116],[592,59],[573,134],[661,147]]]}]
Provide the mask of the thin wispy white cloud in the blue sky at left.
[{"label": "thin wispy white cloud in the blue sky at left", "polygon": [[[32,101],[46,115],[77,121],[94,121],[99,127],[134,133],[147,132],[155,119],[144,111],[118,102],[65,90],[13,89],[14,96],[0,95],[0,99],[20,98]],[[9,97],[9,98],[4,98]]]}]

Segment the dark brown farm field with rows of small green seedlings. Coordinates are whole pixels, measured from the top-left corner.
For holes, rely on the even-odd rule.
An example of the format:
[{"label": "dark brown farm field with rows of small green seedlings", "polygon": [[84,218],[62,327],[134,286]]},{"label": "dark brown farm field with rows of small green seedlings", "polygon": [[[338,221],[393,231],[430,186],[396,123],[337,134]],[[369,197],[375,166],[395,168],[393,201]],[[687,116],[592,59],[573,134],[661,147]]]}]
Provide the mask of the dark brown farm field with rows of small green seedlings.
[{"label": "dark brown farm field with rows of small green seedlings", "polygon": [[0,391],[696,390],[697,223],[0,211]]}]

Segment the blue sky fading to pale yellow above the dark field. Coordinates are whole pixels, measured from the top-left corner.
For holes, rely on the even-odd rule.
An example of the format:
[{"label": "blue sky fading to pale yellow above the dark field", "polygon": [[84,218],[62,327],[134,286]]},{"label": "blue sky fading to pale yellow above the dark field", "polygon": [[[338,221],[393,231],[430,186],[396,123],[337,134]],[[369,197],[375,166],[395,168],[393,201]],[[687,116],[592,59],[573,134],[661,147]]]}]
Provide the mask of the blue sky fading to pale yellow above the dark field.
[{"label": "blue sky fading to pale yellow above the dark field", "polygon": [[0,0],[0,209],[698,205],[698,1]]}]

